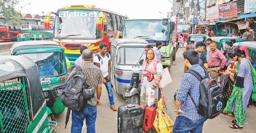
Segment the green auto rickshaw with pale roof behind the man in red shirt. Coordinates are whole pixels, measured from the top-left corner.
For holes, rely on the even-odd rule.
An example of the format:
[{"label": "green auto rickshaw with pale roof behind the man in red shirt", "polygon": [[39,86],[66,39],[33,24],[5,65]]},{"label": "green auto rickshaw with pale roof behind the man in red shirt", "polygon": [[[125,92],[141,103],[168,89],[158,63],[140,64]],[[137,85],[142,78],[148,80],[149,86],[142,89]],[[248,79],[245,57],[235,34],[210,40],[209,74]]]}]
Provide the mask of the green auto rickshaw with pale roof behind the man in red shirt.
[{"label": "green auto rickshaw with pale roof behind the man in red shirt", "polygon": [[217,48],[221,51],[224,50],[225,43],[227,41],[230,41],[231,39],[236,40],[236,42],[243,42],[244,40],[241,38],[234,38],[234,37],[227,37],[227,36],[217,36],[217,37],[211,37],[212,41],[217,44]]}]

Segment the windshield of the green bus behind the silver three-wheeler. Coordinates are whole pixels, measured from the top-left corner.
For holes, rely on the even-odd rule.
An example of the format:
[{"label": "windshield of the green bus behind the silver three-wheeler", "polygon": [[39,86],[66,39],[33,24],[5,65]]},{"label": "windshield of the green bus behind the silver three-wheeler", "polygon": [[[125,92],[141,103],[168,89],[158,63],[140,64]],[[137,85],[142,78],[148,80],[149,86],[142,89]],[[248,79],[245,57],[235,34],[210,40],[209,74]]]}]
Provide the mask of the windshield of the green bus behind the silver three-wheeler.
[{"label": "windshield of the green bus behind the silver three-wheeler", "polygon": [[123,38],[150,38],[159,41],[169,40],[169,24],[162,25],[163,20],[127,20],[124,24]]}]

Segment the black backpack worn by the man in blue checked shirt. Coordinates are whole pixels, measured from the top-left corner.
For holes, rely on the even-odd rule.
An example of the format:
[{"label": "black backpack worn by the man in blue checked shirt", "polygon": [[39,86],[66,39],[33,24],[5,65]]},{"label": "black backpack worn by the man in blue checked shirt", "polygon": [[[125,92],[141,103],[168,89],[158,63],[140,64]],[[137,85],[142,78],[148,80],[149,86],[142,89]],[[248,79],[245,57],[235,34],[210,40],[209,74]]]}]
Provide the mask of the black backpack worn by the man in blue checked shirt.
[{"label": "black backpack worn by the man in blue checked shirt", "polygon": [[207,119],[213,119],[221,114],[223,110],[223,94],[221,87],[216,83],[214,79],[209,77],[206,69],[204,69],[204,72],[205,77],[203,78],[195,70],[187,71],[187,73],[193,74],[197,79],[200,80],[199,106],[196,105],[190,93],[189,97],[195,104],[199,115],[202,115]]}]

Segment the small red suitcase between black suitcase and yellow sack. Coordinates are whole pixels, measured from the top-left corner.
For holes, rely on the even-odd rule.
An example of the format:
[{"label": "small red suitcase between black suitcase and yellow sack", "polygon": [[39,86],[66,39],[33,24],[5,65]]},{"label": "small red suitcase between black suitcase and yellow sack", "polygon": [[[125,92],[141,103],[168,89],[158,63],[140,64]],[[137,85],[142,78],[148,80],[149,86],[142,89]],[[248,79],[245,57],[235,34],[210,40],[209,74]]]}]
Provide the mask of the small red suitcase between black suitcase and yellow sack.
[{"label": "small red suitcase between black suitcase and yellow sack", "polygon": [[152,133],[155,131],[153,122],[155,121],[156,117],[156,108],[157,106],[155,104],[152,106],[145,106],[144,108],[143,129],[147,133]]}]

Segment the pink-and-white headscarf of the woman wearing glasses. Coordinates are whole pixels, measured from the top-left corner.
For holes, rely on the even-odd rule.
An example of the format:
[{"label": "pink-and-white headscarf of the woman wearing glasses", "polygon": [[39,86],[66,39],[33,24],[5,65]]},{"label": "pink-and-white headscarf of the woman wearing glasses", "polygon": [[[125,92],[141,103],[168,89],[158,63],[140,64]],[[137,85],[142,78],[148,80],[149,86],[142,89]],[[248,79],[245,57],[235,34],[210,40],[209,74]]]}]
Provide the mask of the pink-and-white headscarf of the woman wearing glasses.
[{"label": "pink-and-white headscarf of the woman wearing glasses", "polygon": [[[156,51],[153,48],[150,48],[150,49],[152,49],[153,52],[154,52],[154,59],[150,63],[148,63],[147,62],[147,53],[146,53],[145,59],[144,59],[143,64],[142,64],[142,68],[144,69],[144,66],[145,66],[146,70],[144,70],[144,71],[150,72],[150,73],[155,75],[156,74],[156,65],[160,61],[156,58]],[[148,49],[147,52],[150,49]]]}]

